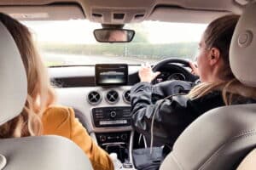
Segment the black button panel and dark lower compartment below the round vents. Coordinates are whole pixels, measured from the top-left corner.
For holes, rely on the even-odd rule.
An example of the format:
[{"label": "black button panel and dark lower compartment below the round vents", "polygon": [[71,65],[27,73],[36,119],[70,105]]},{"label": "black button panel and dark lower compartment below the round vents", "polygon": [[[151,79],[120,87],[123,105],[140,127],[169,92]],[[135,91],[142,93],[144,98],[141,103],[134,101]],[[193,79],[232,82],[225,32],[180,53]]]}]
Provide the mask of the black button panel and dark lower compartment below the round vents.
[{"label": "black button panel and dark lower compartment below the round vents", "polygon": [[[91,114],[93,125],[96,128],[122,129],[122,127],[131,127],[131,106],[95,107],[91,110]],[[96,139],[98,144],[108,153],[117,153],[120,161],[130,161],[131,131],[96,133]]]}]

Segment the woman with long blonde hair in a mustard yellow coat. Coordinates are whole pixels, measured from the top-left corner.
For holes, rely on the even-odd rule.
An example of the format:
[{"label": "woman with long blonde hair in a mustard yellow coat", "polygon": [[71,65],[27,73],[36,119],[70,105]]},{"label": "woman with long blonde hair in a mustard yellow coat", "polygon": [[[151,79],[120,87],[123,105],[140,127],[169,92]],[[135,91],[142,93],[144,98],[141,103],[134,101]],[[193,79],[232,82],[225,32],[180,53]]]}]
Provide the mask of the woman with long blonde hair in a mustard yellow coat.
[{"label": "woman with long blonde hair in a mustard yellow coat", "polygon": [[[55,92],[49,82],[31,32],[6,14],[0,21],[9,30],[19,48],[27,77],[26,105],[19,116],[0,127],[0,138],[14,138],[55,134],[73,140],[90,158],[97,170],[113,169],[108,153],[90,138],[86,129],[74,116],[72,108],[55,106]],[[11,66],[11,63],[10,63]]]}]

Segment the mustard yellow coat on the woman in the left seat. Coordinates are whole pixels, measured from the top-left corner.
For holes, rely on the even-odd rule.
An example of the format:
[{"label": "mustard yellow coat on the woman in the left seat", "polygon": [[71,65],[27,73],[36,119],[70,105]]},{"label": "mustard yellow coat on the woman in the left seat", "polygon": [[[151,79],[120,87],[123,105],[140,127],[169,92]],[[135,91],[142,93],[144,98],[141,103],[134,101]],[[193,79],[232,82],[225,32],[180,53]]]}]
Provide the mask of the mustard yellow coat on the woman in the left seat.
[{"label": "mustard yellow coat on the woman in the left seat", "polygon": [[86,129],[74,116],[72,108],[63,106],[49,107],[42,118],[44,134],[54,134],[73,140],[89,157],[95,170],[113,169],[107,152],[90,138]]}]

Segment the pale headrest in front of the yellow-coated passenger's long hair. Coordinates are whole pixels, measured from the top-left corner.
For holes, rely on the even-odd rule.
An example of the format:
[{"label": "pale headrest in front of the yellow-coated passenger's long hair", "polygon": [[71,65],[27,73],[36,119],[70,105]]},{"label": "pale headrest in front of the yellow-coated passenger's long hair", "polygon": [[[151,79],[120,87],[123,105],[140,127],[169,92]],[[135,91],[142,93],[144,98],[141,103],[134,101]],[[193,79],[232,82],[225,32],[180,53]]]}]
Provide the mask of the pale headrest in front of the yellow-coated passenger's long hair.
[{"label": "pale headrest in front of the yellow-coated passenger's long hair", "polygon": [[15,40],[0,22],[0,125],[22,111],[27,94],[26,71]]}]

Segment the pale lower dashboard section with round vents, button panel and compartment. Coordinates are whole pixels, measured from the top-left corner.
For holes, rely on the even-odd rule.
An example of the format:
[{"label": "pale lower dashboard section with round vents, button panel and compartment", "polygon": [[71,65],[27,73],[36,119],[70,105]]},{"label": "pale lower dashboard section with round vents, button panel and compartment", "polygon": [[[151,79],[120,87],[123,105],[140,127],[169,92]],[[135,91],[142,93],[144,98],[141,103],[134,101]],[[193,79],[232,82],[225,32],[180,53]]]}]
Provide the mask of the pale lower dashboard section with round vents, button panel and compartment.
[{"label": "pale lower dashboard section with round vents, button panel and compartment", "polygon": [[[56,88],[58,104],[73,107],[76,117],[108,153],[132,164],[131,86]],[[129,165],[126,162],[126,165]]]}]

